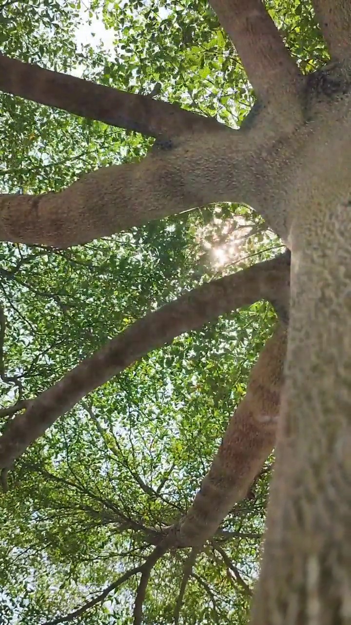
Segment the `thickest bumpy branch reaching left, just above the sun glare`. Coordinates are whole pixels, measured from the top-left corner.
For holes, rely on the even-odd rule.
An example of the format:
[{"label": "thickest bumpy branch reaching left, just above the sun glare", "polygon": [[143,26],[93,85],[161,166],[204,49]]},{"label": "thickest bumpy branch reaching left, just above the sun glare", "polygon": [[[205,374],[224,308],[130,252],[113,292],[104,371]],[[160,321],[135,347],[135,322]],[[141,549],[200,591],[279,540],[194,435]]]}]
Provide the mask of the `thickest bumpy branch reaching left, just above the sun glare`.
[{"label": "thickest bumpy branch reaching left, just above the sun glare", "polygon": [[263,141],[256,128],[183,137],[172,149],[97,169],[59,192],[0,194],[0,240],[69,247],[211,202],[261,206]]}]

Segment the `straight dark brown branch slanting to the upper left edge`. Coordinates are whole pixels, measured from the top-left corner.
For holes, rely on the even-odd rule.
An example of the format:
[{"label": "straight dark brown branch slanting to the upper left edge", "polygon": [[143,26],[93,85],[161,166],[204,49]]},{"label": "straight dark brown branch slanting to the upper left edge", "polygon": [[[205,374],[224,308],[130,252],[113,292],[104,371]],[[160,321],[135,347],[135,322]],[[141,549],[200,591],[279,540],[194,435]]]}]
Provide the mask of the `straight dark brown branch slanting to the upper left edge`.
[{"label": "straight dark brown branch slanting to the upper left edge", "polygon": [[119,91],[2,54],[0,90],[151,137],[172,138],[177,134],[222,128],[215,119],[185,111],[177,104]]}]

